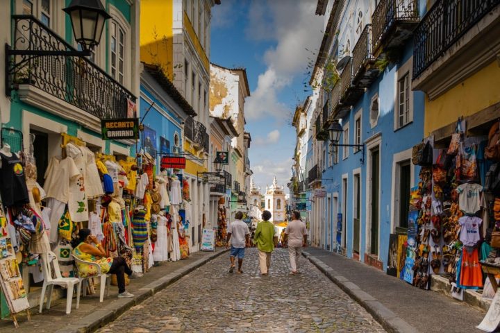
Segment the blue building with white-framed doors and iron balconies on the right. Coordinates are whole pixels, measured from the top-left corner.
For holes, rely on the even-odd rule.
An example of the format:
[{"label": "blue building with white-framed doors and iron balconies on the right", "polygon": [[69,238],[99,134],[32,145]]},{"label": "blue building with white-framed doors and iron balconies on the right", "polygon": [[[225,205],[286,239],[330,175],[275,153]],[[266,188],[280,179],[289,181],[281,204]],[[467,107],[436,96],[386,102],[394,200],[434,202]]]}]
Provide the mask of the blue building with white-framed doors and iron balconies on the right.
[{"label": "blue building with white-framed doors and iron balconies on the right", "polygon": [[[420,10],[418,1],[372,2],[322,8],[319,1],[319,14],[331,12],[319,52],[328,57],[318,58],[313,74],[322,89],[314,116],[317,176],[310,176],[317,179],[309,182],[326,190],[324,198],[313,198],[319,245],[339,246],[385,269],[390,234],[408,226],[410,188],[419,172],[410,160],[424,129],[424,94],[411,87],[411,31]],[[338,132],[329,133],[332,124]]]}]

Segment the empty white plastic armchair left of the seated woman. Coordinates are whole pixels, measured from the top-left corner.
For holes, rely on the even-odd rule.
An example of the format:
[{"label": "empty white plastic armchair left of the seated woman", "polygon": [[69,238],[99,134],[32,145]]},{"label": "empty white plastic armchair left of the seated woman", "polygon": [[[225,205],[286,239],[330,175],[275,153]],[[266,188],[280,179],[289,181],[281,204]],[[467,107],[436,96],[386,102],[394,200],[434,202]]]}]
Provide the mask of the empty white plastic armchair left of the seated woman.
[{"label": "empty white plastic armchair left of the seated woman", "polygon": [[[56,275],[56,278],[52,277],[52,266],[53,271]],[[45,291],[49,291],[49,295],[47,296],[47,309],[50,309],[51,298],[52,298],[52,290],[53,286],[56,284],[58,286],[66,286],[67,287],[67,296],[66,296],[66,314],[71,313],[72,301],[73,301],[73,287],[78,284],[78,288],[80,287],[80,280],[77,278],[63,278],[60,273],[59,263],[56,257],[56,254],[53,252],[42,253],[42,271],[44,275],[44,283],[42,287],[42,296],[40,296],[40,314],[42,313]],[[49,287],[47,289],[47,287]],[[80,296],[76,297],[76,309],[78,309],[78,301]]]}]

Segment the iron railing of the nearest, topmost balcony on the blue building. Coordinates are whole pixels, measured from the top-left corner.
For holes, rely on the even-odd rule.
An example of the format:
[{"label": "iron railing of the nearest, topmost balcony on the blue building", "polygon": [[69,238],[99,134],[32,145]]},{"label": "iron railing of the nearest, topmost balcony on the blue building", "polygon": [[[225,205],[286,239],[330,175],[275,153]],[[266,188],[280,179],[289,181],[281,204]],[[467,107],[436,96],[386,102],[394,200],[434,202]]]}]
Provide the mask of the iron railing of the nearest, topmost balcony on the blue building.
[{"label": "iron railing of the nearest, topmost balcony on the blue building", "polygon": [[418,22],[418,0],[381,0],[372,15],[373,49],[378,49],[385,33],[398,21]]}]

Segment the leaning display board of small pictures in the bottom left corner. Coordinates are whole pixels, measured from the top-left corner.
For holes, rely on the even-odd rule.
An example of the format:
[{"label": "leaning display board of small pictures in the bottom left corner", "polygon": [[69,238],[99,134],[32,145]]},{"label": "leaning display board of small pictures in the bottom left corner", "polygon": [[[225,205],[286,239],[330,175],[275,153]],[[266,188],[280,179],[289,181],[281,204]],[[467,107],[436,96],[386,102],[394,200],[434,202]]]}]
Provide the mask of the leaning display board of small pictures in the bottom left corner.
[{"label": "leaning display board of small pictures in the bottom left corner", "polygon": [[12,314],[29,309],[28,297],[9,237],[0,238],[0,285]]}]

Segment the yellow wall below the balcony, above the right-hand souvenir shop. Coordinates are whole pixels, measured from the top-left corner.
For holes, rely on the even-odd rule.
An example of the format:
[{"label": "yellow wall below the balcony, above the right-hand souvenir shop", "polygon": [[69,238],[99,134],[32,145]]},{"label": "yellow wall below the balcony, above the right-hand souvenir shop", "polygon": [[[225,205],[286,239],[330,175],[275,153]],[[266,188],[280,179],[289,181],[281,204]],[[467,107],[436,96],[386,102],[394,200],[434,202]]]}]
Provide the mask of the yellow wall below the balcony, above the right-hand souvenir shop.
[{"label": "yellow wall below the balcony, above the right-hand souvenir shop", "polygon": [[500,67],[496,61],[433,101],[426,97],[424,135],[500,101]]}]

